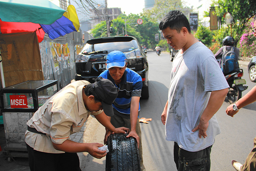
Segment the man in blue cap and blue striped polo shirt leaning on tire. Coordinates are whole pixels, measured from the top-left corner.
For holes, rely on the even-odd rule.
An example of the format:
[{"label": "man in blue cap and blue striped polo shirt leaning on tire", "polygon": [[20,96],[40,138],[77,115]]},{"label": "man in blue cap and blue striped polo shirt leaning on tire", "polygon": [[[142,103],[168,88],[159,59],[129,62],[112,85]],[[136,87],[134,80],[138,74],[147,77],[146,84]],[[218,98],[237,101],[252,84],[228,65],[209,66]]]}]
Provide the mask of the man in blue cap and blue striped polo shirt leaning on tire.
[{"label": "man in blue cap and blue striped polo shirt leaning on tire", "polygon": [[[107,56],[106,69],[99,76],[109,79],[119,88],[118,96],[113,103],[114,116],[110,122],[115,127],[126,126],[130,128],[127,137],[135,137],[139,147],[140,168],[145,171],[142,158],[141,130],[138,119],[140,111],[140,96],[142,90],[142,78],[135,71],[126,68],[125,54],[120,51],[110,52]],[[106,130],[106,142],[110,132]]]}]

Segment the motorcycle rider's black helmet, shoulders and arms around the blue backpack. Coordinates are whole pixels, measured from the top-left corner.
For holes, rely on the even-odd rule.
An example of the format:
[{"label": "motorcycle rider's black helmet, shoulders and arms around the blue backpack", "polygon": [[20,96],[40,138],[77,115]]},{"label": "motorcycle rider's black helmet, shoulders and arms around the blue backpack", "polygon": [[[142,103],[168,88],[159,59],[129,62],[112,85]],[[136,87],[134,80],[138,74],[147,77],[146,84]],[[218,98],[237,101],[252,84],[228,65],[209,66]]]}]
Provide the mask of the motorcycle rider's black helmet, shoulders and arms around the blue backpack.
[{"label": "motorcycle rider's black helmet, shoulders and arms around the blue backpack", "polygon": [[[235,40],[233,37],[231,36],[226,36],[223,40],[222,40],[222,47],[219,48],[219,50],[214,54],[215,58],[217,59],[217,61],[219,62],[219,65],[221,66],[221,58],[222,58],[222,54],[223,54],[223,48],[226,46],[226,50],[230,51],[231,47],[234,46]],[[234,48],[234,52],[236,53],[236,56],[239,56],[239,49],[237,47]]]}]

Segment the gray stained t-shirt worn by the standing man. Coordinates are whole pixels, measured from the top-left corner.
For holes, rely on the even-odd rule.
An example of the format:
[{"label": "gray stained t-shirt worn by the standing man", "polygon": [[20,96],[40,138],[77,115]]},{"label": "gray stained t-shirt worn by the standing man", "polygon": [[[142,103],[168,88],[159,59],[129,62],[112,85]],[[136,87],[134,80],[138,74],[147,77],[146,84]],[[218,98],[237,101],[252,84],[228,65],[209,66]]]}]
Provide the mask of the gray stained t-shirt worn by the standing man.
[{"label": "gray stained t-shirt worn by the standing man", "polygon": [[220,128],[214,115],[207,129],[207,137],[199,138],[192,132],[207,106],[211,91],[229,85],[214,54],[202,42],[194,43],[173,60],[168,93],[168,110],[165,126],[166,140],[175,141],[187,151],[200,151],[212,145]]}]

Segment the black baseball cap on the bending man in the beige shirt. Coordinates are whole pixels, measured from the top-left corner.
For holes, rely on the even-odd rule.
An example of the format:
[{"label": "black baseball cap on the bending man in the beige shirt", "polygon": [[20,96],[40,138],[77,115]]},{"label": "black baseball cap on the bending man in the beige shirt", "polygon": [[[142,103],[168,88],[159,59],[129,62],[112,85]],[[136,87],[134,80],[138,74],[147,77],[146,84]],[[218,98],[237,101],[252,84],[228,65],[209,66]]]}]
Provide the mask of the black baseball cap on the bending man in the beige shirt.
[{"label": "black baseball cap on the bending man in the beige shirt", "polygon": [[113,116],[114,111],[112,104],[118,95],[117,87],[114,86],[110,80],[98,77],[95,83],[93,83],[93,88],[101,99],[104,113],[108,116]]}]

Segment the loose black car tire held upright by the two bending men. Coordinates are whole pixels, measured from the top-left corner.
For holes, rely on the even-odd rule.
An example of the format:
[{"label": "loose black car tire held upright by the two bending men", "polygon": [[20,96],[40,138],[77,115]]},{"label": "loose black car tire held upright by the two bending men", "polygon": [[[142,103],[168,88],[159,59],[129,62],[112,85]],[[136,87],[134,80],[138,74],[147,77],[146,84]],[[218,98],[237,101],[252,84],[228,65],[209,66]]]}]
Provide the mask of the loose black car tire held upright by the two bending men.
[{"label": "loose black car tire held upright by the two bending men", "polygon": [[107,145],[106,171],[140,171],[139,151],[134,137],[111,134]]}]

